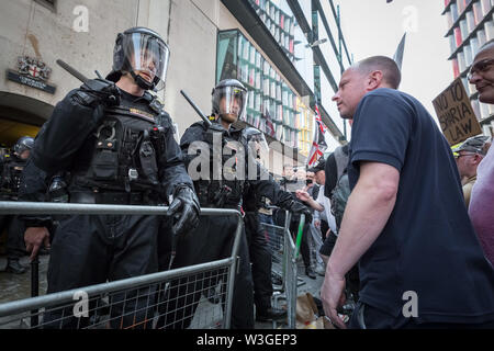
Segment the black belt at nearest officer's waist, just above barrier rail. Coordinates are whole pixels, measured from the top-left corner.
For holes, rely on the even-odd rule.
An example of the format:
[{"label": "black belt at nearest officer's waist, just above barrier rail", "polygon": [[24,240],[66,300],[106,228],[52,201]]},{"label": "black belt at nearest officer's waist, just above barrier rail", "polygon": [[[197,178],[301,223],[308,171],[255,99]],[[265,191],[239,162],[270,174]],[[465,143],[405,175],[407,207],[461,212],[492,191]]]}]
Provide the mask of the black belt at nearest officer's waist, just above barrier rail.
[{"label": "black belt at nearest officer's waist, just above barrier rail", "polygon": [[151,199],[146,193],[125,192],[70,192],[70,202],[77,204],[99,205],[156,205],[157,199]]}]

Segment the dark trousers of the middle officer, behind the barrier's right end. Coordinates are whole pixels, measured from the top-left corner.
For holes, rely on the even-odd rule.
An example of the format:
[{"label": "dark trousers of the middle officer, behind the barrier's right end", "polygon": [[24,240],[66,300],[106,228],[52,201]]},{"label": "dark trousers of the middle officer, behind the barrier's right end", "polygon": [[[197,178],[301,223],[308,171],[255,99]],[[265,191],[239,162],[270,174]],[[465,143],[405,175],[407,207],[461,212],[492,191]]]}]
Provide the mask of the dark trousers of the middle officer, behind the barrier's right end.
[{"label": "dark trousers of the middle officer, behind the barrier's right end", "polygon": [[[236,217],[201,216],[200,224],[195,230],[178,238],[177,256],[171,268],[176,269],[231,257],[236,228]],[[162,236],[160,236],[160,270],[166,270],[168,269],[170,241],[169,238]],[[235,275],[232,328],[252,329],[252,275],[245,229],[242,230],[238,257],[239,268]],[[198,276],[189,276],[170,283],[167,294],[168,302],[166,304],[160,302],[159,304],[160,317],[157,328],[184,329],[190,326],[202,292],[217,284],[217,281],[214,279],[209,280],[209,282],[202,282],[199,278],[198,274]]]}]

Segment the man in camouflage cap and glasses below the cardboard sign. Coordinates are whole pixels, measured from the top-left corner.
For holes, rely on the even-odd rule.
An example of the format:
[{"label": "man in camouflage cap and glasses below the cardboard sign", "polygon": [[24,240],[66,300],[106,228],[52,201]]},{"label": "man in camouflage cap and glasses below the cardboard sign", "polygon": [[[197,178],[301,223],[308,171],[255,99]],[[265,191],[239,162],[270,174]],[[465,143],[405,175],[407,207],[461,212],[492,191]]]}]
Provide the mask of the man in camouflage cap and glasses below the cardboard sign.
[{"label": "man in camouflage cap and glasses below the cardboard sign", "polygon": [[463,196],[467,208],[470,205],[470,195],[476,181],[476,168],[485,156],[485,141],[487,136],[478,135],[468,138],[463,144],[453,149],[458,172],[463,184]]}]

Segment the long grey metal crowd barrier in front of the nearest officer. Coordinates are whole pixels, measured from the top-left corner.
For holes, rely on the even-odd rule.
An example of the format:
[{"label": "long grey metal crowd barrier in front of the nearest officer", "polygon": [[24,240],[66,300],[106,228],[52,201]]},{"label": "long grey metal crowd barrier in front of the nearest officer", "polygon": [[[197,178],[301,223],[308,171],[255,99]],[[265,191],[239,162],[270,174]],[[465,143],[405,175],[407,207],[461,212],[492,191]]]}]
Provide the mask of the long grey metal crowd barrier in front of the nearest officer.
[{"label": "long grey metal crowd barrier in front of the nearest officer", "polygon": [[[0,202],[0,214],[165,215],[167,211],[166,206]],[[0,329],[228,329],[244,223],[234,210],[203,208],[201,215],[237,217],[231,257],[0,304]],[[220,297],[215,302],[206,298],[211,287]],[[37,286],[32,290],[36,293]]]}]

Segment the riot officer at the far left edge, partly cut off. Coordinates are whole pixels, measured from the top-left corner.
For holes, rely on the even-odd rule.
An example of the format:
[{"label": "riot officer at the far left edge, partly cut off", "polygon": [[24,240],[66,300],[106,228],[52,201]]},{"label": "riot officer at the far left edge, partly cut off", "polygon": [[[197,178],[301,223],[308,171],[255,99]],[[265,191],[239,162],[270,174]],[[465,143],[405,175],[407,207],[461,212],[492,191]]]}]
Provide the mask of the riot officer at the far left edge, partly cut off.
[{"label": "riot officer at the far left edge, partly cut off", "polygon": [[[1,158],[1,189],[2,201],[18,201],[21,174],[33,148],[34,139],[23,136],[12,147],[12,155],[5,154]],[[25,254],[24,226],[19,216],[0,216],[0,231],[8,228],[7,268],[5,272],[22,274],[26,269],[20,263]]]}]

